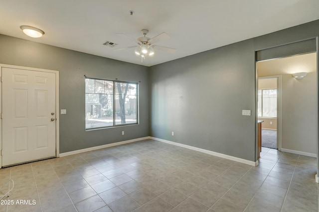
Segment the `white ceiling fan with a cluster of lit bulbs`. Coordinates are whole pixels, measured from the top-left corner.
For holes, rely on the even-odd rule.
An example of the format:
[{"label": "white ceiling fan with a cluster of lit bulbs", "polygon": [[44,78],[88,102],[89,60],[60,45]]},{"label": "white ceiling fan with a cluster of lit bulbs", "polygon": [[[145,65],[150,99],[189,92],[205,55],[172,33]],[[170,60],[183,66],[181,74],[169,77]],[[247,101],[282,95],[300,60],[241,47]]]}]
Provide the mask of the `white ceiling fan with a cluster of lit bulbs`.
[{"label": "white ceiling fan with a cluster of lit bulbs", "polygon": [[146,37],[146,35],[148,34],[149,30],[142,29],[141,32],[143,33],[144,36],[143,37],[139,37],[137,40],[134,39],[134,38],[131,38],[130,36],[127,36],[125,34],[117,34],[117,35],[120,35],[122,37],[126,37],[126,38],[129,38],[129,39],[133,40],[138,45],[137,46],[124,47],[124,48],[120,48],[120,49],[115,49],[115,51],[135,48],[135,54],[141,56],[142,62],[143,62],[143,59],[145,59],[146,56],[153,56],[155,54],[154,49],[165,51],[165,52],[169,52],[169,53],[173,53],[173,52],[176,51],[176,49],[173,49],[173,48],[154,45],[155,43],[157,43],[157,42],[159,42],[161,40],[165,40],[165,39],[169,38],[169,35],[167,35],[165,32],[160,33],[159,35],[157,35],[157,36],[155,36],[153,38]]}]

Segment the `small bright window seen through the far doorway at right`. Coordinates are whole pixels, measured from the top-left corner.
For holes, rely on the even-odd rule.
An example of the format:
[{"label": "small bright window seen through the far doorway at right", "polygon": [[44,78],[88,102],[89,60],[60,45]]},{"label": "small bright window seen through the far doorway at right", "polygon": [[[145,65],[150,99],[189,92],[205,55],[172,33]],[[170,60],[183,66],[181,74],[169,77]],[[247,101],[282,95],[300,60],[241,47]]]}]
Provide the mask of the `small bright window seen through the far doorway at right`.
[{"label": "small bright window seen through the far doorway at right", "polygon": [[277,89],[258,90],[258,117],[277,117]]}]

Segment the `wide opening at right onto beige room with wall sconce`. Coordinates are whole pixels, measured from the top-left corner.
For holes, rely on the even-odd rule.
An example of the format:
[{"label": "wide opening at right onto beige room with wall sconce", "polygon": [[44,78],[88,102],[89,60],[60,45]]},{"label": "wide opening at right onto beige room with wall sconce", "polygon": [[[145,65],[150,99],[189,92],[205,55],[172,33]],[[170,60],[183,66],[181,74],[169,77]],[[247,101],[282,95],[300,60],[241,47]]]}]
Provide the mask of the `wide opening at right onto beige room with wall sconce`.
[{"label": "wide opening at right onto beige room with wall sconce", "polygon": [[[268,104],[266,108],[272,106],[274,109],[277,96],[277,117],[275,112],[269,108],[262,111],[264,104],[261,109],[258,108],[258,120],[264,118],[262,128],[277,130],[277,135],[274,132],[273,134],[277,136],[278,150],[316,157],[318,137],[317,53],[260,61],[257,62],[256,67],[258,92],[260,93],[258,106],[260,107],[262,101],[266,101]],[[307,73],[307,75],[304,74],[304,78],[298,79],[293,75],[303,72]],[[273,82],[273,85],[263,87],[263,84],[267,83],[262,80],[271,81],[271,79],[277,80],[277,83]],[[274,84],[277,84],[277,88]],[[277,118],[277,121],[273,118]]]}]

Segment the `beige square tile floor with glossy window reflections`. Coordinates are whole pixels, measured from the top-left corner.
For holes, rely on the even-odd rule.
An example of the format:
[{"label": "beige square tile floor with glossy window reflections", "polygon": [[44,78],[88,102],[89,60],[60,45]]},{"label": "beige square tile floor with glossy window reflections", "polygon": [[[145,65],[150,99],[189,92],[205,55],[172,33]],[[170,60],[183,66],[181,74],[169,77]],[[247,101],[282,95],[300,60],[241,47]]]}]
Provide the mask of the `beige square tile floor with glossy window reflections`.
[{"label": "beige square tile floor with glossy window reflections", "polygon": [[0,212],[318,212],[316,159],[261,155],[253,167],[148,140],[3,168]]}]

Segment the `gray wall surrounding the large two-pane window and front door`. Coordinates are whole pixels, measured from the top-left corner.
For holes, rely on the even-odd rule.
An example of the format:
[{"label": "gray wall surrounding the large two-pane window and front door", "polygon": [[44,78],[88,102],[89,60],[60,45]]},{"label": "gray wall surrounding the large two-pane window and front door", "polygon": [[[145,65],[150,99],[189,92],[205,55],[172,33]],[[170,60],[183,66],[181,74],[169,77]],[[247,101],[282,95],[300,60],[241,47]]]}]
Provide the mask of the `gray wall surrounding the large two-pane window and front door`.
[{"label": "gray wall surrounding the large two-pane window and front door", "polygon": [[[0,35],[0,63],[59,71],[60,153],[149,136],[148,68]],[[141,81],[140,125],[85,131],[85,80]],[[122,136],[122,131],[125,135]]]}]

